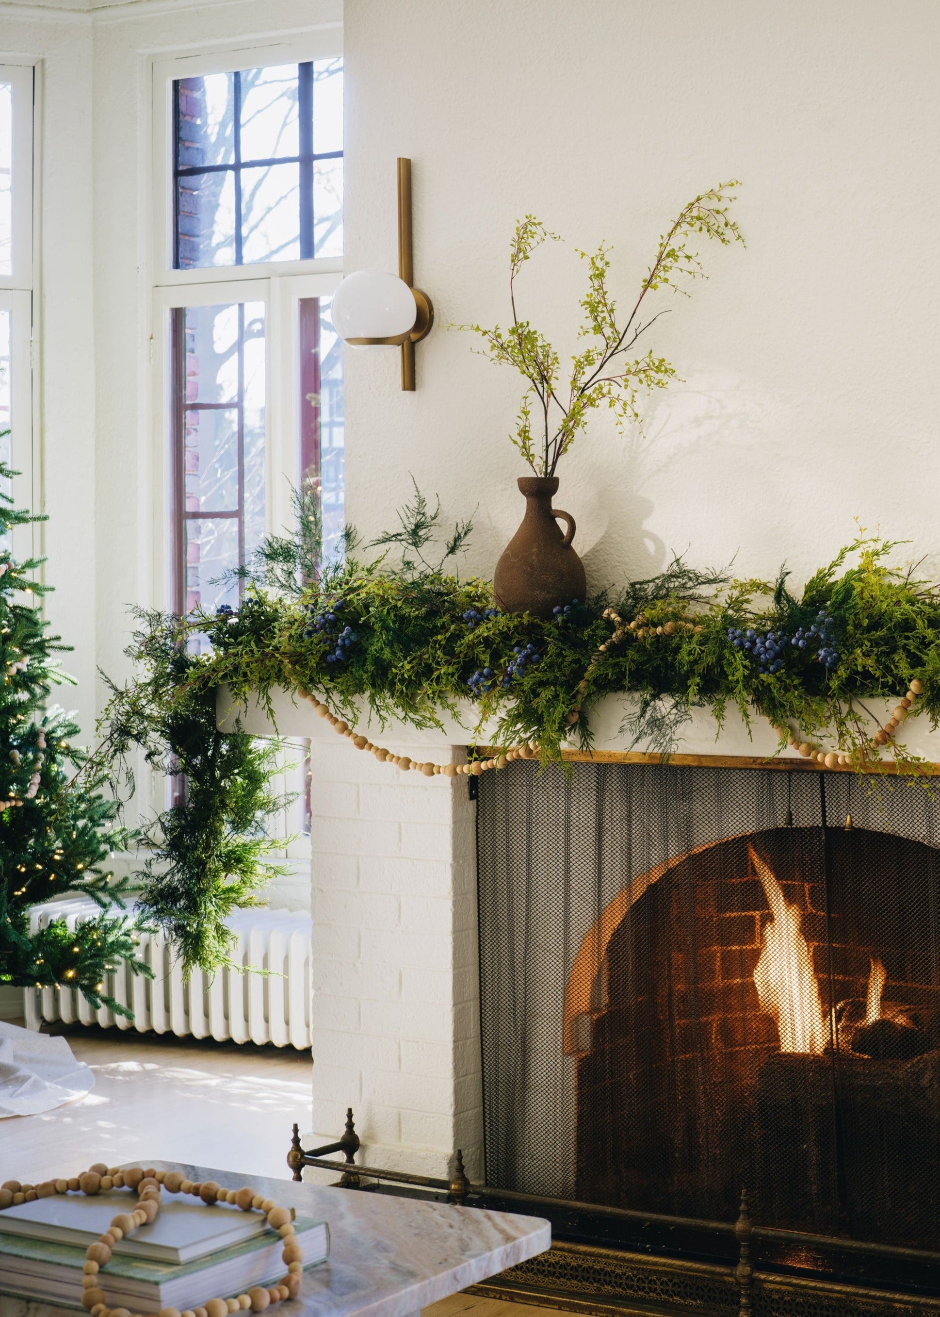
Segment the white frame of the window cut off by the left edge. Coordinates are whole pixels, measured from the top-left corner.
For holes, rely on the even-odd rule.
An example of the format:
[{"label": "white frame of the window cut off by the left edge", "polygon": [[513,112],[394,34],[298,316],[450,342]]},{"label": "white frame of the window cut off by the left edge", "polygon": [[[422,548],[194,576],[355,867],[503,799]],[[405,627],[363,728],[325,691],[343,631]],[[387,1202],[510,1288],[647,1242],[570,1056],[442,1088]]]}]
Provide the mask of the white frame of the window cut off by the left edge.
[{"label": "white frame of the window cut off by the left edge", "polygon": [[[12,188],[12,270],[0,274],[0,309],[11,315],[11,466],[17,507],[34,512],[42,508],[39,464],[33,454],[36,432],[36,299],[37,227],[36,204],[37,144],[39,140],[39,68],[16,58],[0,55],[0,82],[13,88],[13,176]],[[13,532],[13,554],[26,558],[41,554],[41,528],[37,523]]]}]

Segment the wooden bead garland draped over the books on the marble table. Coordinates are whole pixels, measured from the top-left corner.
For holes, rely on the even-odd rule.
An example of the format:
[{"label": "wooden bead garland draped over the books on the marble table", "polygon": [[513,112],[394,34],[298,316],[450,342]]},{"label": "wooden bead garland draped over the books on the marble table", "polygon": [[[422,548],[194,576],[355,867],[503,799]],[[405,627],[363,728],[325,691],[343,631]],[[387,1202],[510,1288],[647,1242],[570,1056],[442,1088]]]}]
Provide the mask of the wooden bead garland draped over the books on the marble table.
[{"label": "wooden bead garland draped over the books on the marble table", "polygon": [[18,1180],[7,1180],[0,1185],[0,1210],[20,1202],[33,1202],[36,1198],[50,1198],[55,1193],[87,1193],[96,1195],[108,1189],[136,1189],[137,1206],[133,1212],[118,1213],[111,1226],[96,1243],[86,1249],[86,1263],[83,1268],[83,1295],[82,1306],[91,1317],[145,1317],[142,1313],[132,1313],[128,1308],[108,1308],[101,1288],[101,1268],[111,1262],[111,1251],[118,1239],[130,1235],[144,1225],[149,1225],[161,1208],[161,1187],[169,1193],[191,1193],[196,1198],[211,1206],[213,1202],[230,1202],[241,1208],[242,1212],[263,1212],[267,1223],[276,1230],[284,1241],[280,1254],[282,1262],[287,1266],[287,1275],[276,1285],[270,1288],[255,1285],[246,1295],[236,1299],[208,1299],[197,1308],[161,1308],[159,1314],[149,1313],[146,1317],[228,1317],[236,1312],[263,1312],[270,1304],[280,1303],[282,1299],[296,1299],[300,1293],[301,1272],[304,1267],[303,1249],[296,1241],[294,1230],[294,1217],[290,1208],[279,1208],[271,1198],[265,1198],[251,1188],[222,1189],[215,1180],[204,1184],[194,1184],[187,1180],[180,1171],[154,1171],[129,1167],[120,1171],[117,1167],[108,1167],[103,1162],[95,1163],[88,1171],[70,1180],[46,1180],[43,1184],[20,1184]]}]

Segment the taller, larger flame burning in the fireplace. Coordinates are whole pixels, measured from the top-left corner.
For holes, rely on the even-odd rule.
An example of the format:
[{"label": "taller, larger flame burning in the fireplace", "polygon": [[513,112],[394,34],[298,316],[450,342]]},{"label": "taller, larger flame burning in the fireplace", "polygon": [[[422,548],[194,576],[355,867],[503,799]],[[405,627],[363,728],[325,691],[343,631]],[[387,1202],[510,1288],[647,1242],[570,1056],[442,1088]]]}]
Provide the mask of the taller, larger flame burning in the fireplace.
[{"label": "taller, larger flame burning in the fireplace", "polygon": [[[829,1031],[819,984],[812,972],[810,947],[800,931],[799,907],[787,905],[773,869],[753,847],[748,847],[748,851],[773,914],[764,930],[764,948],[754,969],[757,996],[761,1006],[777,1022],[781,1051],[818,1056],[829,1042]],[[879,1002],[881,989],[877,998]],[[869,985],[869,1004],[870,1001]]]}]

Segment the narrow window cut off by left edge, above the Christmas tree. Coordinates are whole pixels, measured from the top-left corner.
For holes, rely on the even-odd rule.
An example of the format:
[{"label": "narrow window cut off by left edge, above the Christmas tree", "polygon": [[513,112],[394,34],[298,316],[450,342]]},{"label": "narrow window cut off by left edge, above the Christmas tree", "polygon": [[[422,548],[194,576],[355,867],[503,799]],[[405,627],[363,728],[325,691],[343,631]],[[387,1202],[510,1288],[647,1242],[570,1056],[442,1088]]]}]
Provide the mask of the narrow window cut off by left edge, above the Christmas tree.
[{"label": "narrow window cut off by left edge, above the Christmas tree", "polygon": [[[24,507],[33,490],[33,68],[0,66],[0,458],[20,474],[3,493]],[[20,527],[18,557],[38,551]],[[0,543],[0,549],[4,545]]]}]

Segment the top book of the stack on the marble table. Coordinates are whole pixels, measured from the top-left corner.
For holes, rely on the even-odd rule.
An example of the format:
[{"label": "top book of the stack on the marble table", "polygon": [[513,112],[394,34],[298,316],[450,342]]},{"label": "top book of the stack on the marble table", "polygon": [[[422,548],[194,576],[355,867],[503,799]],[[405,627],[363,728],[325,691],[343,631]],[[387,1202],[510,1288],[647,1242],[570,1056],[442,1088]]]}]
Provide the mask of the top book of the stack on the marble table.
[{"label": "top book of the stack on the marble table", "polygon": [[[0,1221],[4,1234],[29,1239],[54,1239],[87,1249],[104,1234],[120,1212],[133,1212],[136,1195],[109,1193],[55,1195],[7,1208]],[[228,1202],[211,1209],[192,1198],[166,1198],[157,1220],[141,1226],[129,1239],[115,1245],[115,1254],[151,1258],[154,1262],[195,1262],[216,1249],[230,1249],[265,1233],[267,1222],[259,1212],[242,1212]]]}]

